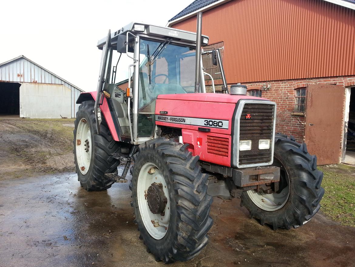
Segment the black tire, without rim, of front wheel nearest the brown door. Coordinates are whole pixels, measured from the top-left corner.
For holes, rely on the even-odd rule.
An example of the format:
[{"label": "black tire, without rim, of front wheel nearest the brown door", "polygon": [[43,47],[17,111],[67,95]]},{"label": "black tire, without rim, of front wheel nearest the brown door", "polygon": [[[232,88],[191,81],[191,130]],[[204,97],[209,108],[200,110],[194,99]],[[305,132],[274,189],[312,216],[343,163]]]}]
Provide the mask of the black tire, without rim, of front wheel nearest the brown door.
[{"label": "black tire, without rim, of front wheel nearest the brown door", "polygon": [[307,151],[305,143],[299,144],[294,137],[277,133],[275,135],[275,156],[282,158],[293,179],[289,200],[279,210],[269,212],[260,209],[249,198],[246,192],[241,195],[241,206],[245,206],[250,217],[267,224],[273,229],[299,227],[310,220],[319,210],[324,194],[321,187],[323,173],[317,170],[317,157]]}]

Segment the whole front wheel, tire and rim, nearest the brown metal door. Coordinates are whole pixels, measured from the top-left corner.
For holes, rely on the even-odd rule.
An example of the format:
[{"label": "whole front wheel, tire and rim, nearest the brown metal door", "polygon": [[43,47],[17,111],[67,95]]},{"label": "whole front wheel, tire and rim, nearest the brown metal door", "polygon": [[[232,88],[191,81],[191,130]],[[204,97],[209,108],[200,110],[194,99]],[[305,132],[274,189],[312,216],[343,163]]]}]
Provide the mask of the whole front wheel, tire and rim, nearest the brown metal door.
[{"label": "whole front wheel, tire and rim, nearest the brown metal door", "polygon": [[250,218],[274,230],[299,227],[312,219],[321,206],[323,173],[317,170],[317,158],[307,152],[305,143],[297,143],[292,136],[276,134],[273,165],[280,167],[278,192],[245,191],[240,205],[249,210]]}]

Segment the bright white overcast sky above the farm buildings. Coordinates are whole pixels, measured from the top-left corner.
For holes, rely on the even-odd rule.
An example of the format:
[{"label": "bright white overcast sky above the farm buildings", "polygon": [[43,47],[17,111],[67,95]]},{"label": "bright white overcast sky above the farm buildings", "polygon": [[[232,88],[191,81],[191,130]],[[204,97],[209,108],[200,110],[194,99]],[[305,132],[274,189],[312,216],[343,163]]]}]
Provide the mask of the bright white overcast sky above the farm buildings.
[{"label": "bright white overcast sky above the farm buildings", "polygon": [[[80,89],[95,91],[102,52],[96,45],[109,29],[131,21],[165,26],[192,1],[2,1],[0,63],[24,55]],[[122,56],[116,82],[128,79],[129,64]]]}]

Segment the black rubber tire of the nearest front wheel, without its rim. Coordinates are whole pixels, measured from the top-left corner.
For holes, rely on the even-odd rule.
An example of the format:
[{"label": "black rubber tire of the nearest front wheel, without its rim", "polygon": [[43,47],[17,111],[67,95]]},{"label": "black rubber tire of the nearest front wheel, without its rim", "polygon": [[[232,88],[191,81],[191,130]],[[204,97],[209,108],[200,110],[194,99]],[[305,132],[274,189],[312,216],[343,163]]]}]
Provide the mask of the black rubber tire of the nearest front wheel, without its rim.
[{"label": "black rubber tire of the nearest front wheel, without its rim", "polygon": [[198,164],[199,157],[192,156],[187,145],[174,140],[156,138],[140,145],[133,156],[135,164],[131,168],[131,190],[134,188],[133,181],[137,179],[135,168],[138,168],[138,163],[141,161],[140,154],[152,150],[156,151],[166,164],[169,177],[173,179],[172,190],[177,203],[177,216],[174,220],[170,219],[170,223],[173,221],[174,226],[169,226],[169,228],[172,227],[176,231],[166,233],[169,236],[165,236],[164,239],[171,239],[168,246],[159,247],[153,244],[152,237],[144,229],[143,224],[139,223],[141,217],[138,204],[132,196],[131,206],[135,209],[138,230],[141,232],[147,250],[155,256],[155,260],[165,263],[187,261],[200,253],[207,245],[207,232],[213,225],[213,220],[209,216],[212,197],[207,194],[208,176],[201,173],[201,167]]}]

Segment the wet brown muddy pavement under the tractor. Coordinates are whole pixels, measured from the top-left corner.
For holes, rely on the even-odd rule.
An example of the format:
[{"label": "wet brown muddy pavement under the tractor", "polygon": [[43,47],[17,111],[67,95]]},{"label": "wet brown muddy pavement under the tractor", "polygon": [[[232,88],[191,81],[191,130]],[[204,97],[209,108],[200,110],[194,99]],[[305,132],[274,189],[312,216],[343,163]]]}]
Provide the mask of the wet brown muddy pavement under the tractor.
[{"label": "wet brown muddy pavement under the tractor", "polygon": [[[61,173],[3,179],[0,188],[0,266],[166,266],[138,239],[128,183],[86,192],[75,173]],[[355,228],[321,213],[273,231],[239,199],[215,198],[211,216],[207,247],[170,266],[355,266]]]}]

